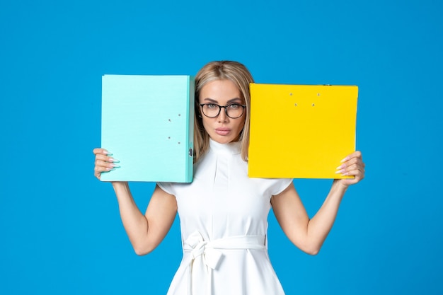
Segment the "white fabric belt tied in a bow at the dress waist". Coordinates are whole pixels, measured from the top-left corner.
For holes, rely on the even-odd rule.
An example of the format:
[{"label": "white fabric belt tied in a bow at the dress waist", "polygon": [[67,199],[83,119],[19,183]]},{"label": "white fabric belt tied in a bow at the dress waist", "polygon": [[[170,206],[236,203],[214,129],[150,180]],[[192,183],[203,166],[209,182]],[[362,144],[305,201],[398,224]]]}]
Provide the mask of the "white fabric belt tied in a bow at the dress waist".
[{"label": "white fabric belt tied in a bow at the dress waist", "polygon": [[[266,250],[265,239],[265,236],[232,236],[205,241],[198,231],[192,233],[183,243],[183,251],[190,253],[188,294],[212,294],[212,270],[217,269],[222,250]],[[206,291],[201,287],[202,279],[207,282]]]}]

